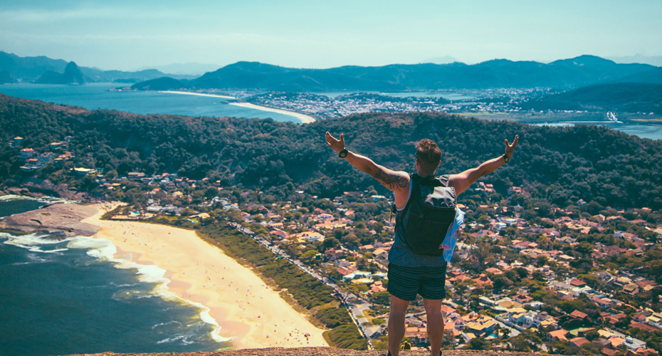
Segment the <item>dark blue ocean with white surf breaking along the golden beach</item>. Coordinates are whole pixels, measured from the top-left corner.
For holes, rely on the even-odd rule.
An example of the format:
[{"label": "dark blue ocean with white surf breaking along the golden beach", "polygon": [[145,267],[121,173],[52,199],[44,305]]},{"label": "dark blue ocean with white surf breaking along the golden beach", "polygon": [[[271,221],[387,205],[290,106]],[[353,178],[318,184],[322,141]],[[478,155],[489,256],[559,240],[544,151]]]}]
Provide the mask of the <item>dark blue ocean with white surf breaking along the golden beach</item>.
[{"label": "dark blue ocean with white surf breaking along the golden beach", "polygon": [[[0,215],[24,211],[17,201],[0,201]],[[0,355],[229,349],[201,305],[167,292],[164,270],[114,251],[86,236],[0,233]]]}]

